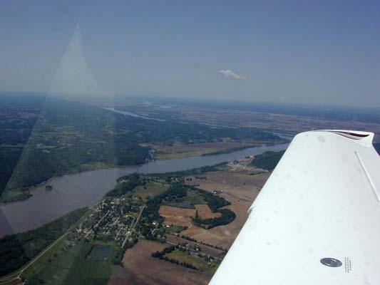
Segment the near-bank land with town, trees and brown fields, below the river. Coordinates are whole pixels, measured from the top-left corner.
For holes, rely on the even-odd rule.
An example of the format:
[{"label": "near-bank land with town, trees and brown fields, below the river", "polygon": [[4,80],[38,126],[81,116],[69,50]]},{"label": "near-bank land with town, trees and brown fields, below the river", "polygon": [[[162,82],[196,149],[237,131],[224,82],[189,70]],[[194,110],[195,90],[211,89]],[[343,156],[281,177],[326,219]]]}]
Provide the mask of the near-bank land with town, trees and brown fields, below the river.
[{"label": "near-bank land with town, trees and brown fields, below the river", "polygon": [[252,160],[120,177],[93,207],[0,239],[1,284],[207,284],[269,177]]}]

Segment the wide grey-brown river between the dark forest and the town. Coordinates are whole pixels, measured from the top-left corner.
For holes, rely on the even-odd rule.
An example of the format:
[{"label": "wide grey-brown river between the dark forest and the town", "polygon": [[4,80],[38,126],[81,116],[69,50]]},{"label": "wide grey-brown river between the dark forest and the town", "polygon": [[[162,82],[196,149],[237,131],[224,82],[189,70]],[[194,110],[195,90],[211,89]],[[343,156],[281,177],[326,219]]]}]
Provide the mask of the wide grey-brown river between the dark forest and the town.
[{"label": "wide grey-brown river between the dark forest and the town", "polygon": [[[115,180],[123,175],[133,172],[149,174],[189,170],[220,162],[240,160],[248,155],[258,155],[267,150],[284,150],[287,145],[250,147],[227,154],[157,160],[144,165],[92,170],[56,177],[45,184],[34,187],[31,190],[33,195],[31,198],[0,206],[0,237],[36,229],[36,227],[41,227],[74,209],[95,204],[113,189]],[[53,190],[45,190],[46,185],[51,185]]]}]

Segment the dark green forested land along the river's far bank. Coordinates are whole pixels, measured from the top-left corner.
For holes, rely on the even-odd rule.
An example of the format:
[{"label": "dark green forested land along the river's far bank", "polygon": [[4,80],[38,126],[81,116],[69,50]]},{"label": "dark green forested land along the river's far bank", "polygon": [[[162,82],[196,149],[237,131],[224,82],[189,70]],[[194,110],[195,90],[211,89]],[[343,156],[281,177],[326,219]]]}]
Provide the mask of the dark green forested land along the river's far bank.
[{"label": "dark green forested land along the river's far bank", "polygon": [[[280,142],[257,128],[213,128],[175,120],[133,118],[92,105],[41,96],[0,96],[0,191],[36,185],[56,175],[153,159],[153,146],[202,142]],[[210,150],[212,151],[212,150]],[[26,197],[6,192],[4,201]]]}]

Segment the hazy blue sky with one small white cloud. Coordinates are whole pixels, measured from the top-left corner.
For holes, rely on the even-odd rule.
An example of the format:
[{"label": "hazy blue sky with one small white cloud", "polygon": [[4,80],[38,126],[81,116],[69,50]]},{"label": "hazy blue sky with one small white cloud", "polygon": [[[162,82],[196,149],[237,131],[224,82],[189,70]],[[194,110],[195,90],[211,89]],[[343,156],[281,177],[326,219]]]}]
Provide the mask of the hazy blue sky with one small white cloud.
[{"label": "hazy blue sky with one small white cloud", "polygon": [[380,106],[380,3],[1,0],[0,90]]}]

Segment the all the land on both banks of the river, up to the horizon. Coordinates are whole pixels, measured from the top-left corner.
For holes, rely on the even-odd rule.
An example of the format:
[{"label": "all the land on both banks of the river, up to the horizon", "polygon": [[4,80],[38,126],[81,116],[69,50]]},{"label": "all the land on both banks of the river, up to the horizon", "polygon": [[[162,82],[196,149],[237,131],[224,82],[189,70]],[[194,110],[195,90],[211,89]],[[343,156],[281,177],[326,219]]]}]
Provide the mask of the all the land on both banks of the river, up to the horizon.
[{"label": "all the land on both banks of the river, up to the horizon", "polygon": [[[354,117],[351,109],[313,106],[72,99],[0,95],[1,202],[26,199],[30,186],[72,172],[150,160],[204,160],[247,147],[276,147],[296,133],[319,128],[380,132],[373,109],[360,109]],[[218,165],[119,175],[115,187],[92,207],[2,237],[1,258],[7,265],[0,281],[207,283],[284,154],[255,156],[248,150],[244,158]]]}]

